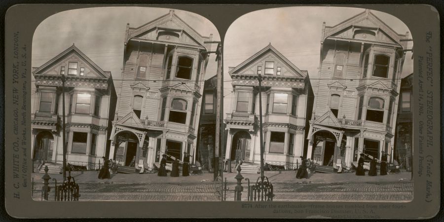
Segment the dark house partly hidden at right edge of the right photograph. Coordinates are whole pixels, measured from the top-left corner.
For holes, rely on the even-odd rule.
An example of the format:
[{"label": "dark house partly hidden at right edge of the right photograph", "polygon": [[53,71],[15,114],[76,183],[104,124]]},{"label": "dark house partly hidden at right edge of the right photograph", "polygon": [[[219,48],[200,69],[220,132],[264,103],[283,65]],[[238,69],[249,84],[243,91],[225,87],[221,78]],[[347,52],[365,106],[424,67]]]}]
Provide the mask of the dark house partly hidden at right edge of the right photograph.
[{"label": "dark house partly hidden at right edge of the right photograph", "polygon": [[413,143],[413,110],[411,101],[413,74],[409,74],[401,80],[400,99],[398,104],[398,118],[396,119],[395,145],[393,158],[398,161],[403,169],[411,171],[412,167],[412,143]]}]

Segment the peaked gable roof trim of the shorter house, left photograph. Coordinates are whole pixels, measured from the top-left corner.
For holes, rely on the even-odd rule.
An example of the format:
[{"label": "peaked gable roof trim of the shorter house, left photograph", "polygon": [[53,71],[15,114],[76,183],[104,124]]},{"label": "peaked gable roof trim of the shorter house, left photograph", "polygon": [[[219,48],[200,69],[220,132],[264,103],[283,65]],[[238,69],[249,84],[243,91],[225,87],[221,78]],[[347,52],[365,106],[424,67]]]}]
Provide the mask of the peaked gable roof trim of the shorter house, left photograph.
[{"label": "peaked gable roof trim of the shorter house, left photograph", "polygon": [[63,59],[66,59],[70,57],[72,54],[76,54],[76,56],[79,57],[79,59],[83,60],[85,63],[87,63],[91,68],[93,68],[97,74],[100,75],[101,78],[110,78],[111,72],[103,71],[97,64],[95,64],[91,59],[88,58],[85,54],[83,54],[82,51],[80,51],[75,45],[73,44],[71,47],[67,48],[62,53],[58,54],[45,64],[38,67],[36,70],[33,71],[33,74],[43,74],[45,70],[53,66],[55,63],[62,61]]}]

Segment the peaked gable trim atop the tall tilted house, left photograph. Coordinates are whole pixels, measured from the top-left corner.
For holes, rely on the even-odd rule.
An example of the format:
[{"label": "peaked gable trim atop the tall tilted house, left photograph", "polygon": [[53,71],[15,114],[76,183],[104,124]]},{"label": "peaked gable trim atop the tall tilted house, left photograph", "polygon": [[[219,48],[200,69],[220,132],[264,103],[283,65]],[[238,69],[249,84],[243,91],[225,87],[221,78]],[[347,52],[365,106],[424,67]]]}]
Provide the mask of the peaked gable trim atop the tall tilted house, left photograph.
[{"label": "peaked gable trim atop the tall tilted house, left photograph", "polygon": [[[176,26],[168,25],[168,22],[172,21]],[[132,38],[136,38],[139,36],[142,36],[144,33],[149,32],[152,29],[172,29],[172,30],[183,30],[189,37],[191,37],[196,43],[202,47],[204,47],[206,50],[211,50],[211,44],[205,44],[204,41],[209,41],[212,38],[212,35],[210,37],[204,37],[201,36],[199,33],[197,33],[193,28],[191,28],[188,24],[185,23],[184,20],[179,18],[174,13],[174,9],[170,9],[170,12],[168,14],[165,14],[163,16],[160,16],[142,26],[139,26],[137,28],[130,28],[129,23],[127,24],[127,36],[125,44]]]}]

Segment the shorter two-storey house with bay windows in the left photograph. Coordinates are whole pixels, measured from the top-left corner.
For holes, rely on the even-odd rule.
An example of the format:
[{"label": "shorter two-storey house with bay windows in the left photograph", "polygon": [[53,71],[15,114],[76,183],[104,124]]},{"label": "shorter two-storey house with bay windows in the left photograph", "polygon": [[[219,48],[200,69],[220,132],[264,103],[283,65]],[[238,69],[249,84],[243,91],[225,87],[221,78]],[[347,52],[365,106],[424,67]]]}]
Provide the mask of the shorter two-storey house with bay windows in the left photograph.
[{"label": "shorter two-storey house with bay windows in the left photograph", "polygon": [[63,163],[62,75],[65,75],[67,162],[95,169],[103,163],[114,117],[116,93],[103,71],[75,45],[33,68],[33,160]]}]

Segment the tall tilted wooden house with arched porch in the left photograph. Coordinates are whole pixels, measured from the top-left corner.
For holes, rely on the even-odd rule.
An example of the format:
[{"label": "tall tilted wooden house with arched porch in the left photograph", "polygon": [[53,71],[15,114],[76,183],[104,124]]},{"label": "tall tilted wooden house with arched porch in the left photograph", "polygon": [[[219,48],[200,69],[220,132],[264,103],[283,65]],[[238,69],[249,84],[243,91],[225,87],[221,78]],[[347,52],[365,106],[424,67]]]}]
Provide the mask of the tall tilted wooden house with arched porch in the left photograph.
[{"label": "tall tilted wooden house with arched porch in the left photograph", "polygon": [[[139,27],[126,26],[122,81],[109,158],[134,172],[166,153],[196,158],[202,85],[211,41],[174,10]],[[168,157],[168,161],[171,158]]]}]

